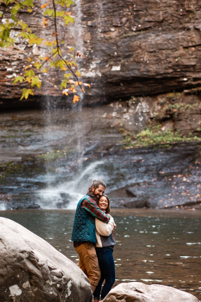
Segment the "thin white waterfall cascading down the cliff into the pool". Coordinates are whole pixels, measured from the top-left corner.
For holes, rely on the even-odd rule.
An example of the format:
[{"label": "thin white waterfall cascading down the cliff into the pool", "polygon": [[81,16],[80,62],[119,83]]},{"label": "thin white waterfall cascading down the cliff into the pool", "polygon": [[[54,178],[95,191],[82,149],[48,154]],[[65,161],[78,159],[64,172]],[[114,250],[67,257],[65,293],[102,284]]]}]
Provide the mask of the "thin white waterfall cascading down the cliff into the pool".
[{"label": "thin white waterfall cascading down the cliff into the pool", "polygon": [[[75,22],[68,25],[68,37],[75,37],[73,40],[74,45],[71,46],[83,53],[81,0],[75,1],[73,11],[76,13]],[[69,39],[67,43],[68,42],[71,44],[71,39]],[[76,62],[78,70],[82,66],[82,61],[82,57],[77,58]],[[81,78],[80,81],[82,81]],[[48,161],[45,162],[44,165],[46,175],[44,175],[43,179],[46,183],[46,188],[43,188],[37,192],[37,203],[42,208],[52,209],[62,207],[67,209],[75,209],[77,202],[83,196],[83,194],[85,194],[91,182],[95,178],[101,177],[100,172],[97,171],[99,171],[99,166],[103,162],[97,161],[83,166],[83,142],[86,140],[86,125],[83,123],[81,116],[83,109],[82,100],[83,93],[80,95],[80,101],[74,104],[69,110],[68,106],[65,104],[64,108],[61,108],[59,104],[61,101],[60,98],[58,98],[55,102],[52,101],[52,99],[48,96],[45,97],[43,117],[45,123],[44,141],[46,142],[47,157],[52,152],[52,149],[58,149],[56,151],[60,152],[60,149],[68,149],[71,145],[73,145],[74,150],[72,151],[70,148],[70,152],[74,152],[72,163],[69,163],[68,155],[66,155],[66,162],[64,165],[73,164],[76,166],[76,172],[71,176],[70,179],[67,177],[68,179],[64,182],[57,182],[58,169],[52,171],[52,164]],[[70,111],[72,116],[74,116],[72,118],[69,118]],[[68,167],[63,168],[63,170],[67,171]],[[66,172],[66,174],[68,174],[68,172]]]}]

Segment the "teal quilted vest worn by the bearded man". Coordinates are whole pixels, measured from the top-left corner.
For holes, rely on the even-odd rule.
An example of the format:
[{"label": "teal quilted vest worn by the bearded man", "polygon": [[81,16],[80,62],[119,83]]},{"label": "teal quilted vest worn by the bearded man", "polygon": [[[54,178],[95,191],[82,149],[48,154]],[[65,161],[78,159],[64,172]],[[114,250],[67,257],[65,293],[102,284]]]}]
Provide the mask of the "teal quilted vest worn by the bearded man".
[{"label": "teal quilted vest worn by the bearded man", "polygon": [[88,195],[84,195],[77,204],[71,240],[90,241],[96,245],[95,217],[81,207],[86,197]]}]

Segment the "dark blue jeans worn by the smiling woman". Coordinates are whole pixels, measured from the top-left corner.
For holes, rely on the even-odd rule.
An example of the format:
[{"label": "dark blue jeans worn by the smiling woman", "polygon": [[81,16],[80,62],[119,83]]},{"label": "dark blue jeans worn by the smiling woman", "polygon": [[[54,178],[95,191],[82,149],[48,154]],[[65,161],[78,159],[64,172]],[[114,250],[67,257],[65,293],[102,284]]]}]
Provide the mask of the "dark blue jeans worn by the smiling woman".
[{"label": "dark blue jeans worn by the smiling woman", "polygon": [[[94,300],[100,299],[100,293],[101,299],[104,299],[115,282],[115,263],[112,253],[113,250],[110,247],[96,247],[96,255],[99,261],[101,278],[93,293]],[[101,290],[104,280],[105,284],[103,285],[103,288]]]}]

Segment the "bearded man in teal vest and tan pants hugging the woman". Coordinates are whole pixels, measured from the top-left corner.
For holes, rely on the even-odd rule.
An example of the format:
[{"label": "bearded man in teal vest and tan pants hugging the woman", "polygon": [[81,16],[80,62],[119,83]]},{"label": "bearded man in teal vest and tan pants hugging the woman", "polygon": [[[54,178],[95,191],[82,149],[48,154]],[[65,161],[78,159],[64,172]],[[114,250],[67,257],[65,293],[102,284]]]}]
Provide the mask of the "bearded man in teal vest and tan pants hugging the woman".
[{"label": "bearded man in teal vest and tan pants hugging the woman", "polygon": [[105,192],[106,185],[101,180],[94,180],[86,195],[77,204],[71,240],[79,255],[79,267],[89,278],[92,292],[100,279],[100,268],[96,256],[95,218],[108,223],[109,217],[98,206],[98,200]]}]

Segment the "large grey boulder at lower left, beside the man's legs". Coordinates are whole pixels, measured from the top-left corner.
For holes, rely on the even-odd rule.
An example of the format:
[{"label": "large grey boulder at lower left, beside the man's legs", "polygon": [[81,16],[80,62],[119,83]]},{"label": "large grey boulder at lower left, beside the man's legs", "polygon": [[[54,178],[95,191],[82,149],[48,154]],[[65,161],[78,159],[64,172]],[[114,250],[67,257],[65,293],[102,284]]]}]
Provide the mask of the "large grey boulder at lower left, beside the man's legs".
[{"label": "large grey boulder at lower left, beside the man's legs", "polygon": [[80,268],[20,224],[0,217],[0,301],[89,302]]}]

